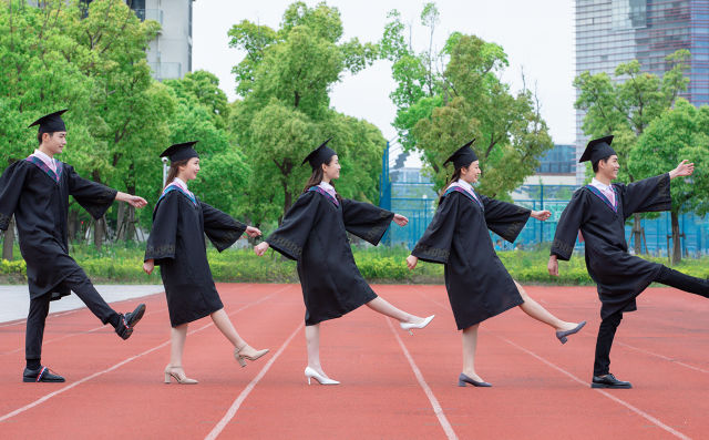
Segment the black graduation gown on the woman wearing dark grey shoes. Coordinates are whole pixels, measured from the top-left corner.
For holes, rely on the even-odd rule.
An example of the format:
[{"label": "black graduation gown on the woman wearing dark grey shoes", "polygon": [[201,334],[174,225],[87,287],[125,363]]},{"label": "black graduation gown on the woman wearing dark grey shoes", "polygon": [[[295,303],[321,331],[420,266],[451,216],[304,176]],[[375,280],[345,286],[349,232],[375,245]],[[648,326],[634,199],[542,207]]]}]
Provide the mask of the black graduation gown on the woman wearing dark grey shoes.
[{"label": "black graduation gown on the woman wearing dark grey shoes", "polygon": [[480,202],[460,187],[449,188],[411,253],[445,265],[445,288],[459,330],[524,303],[487,229],[512,243],[531,211],[477,196]]}]

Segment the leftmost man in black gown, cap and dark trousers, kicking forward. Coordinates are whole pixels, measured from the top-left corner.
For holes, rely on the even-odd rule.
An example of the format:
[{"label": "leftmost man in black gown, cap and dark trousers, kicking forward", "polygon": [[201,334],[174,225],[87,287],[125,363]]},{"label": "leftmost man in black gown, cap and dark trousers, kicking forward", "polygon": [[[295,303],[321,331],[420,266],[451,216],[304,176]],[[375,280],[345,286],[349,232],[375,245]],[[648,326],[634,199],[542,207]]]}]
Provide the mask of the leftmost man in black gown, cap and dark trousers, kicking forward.
[{"label": "leftmost man in black gown, cap and dark trousers, kicking forward", "polygon": [[74,168],[54,158],[66,144],[66,126],[61,110],[40,117],[39,147],[29,157],[14,162],[0,177],[0,229],[7,231],[14,214],[20,235],[20,250],[27,263],[30,310],[27,318],[22,374],[25,382],[63,382],[64,378],[42,366],[42,339],[49,304],[73,290],[103,324],[127,339],[143,317],[141,304],[129,314],[113,310],[99,295],[84,270],[69,256],[66,217],[69,196],[94,218],[103,217],[113,201],[145,206],[145,199],[117,192],[81,177]]}]

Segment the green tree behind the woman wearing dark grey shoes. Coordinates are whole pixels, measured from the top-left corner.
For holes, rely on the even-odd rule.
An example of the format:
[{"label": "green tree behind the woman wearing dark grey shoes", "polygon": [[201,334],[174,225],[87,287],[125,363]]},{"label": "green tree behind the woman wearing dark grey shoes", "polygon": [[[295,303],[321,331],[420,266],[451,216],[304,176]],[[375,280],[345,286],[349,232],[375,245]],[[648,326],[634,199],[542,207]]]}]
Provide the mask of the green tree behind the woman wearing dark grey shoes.
[{"label": "green tree behind the woman wearing dark grey shoes", "polygon": [[417,54],[407,43],[399,12],[389,13],[381,52],[392,61],[398,88],[394,127],[404,149],[423,153],[436,186],[450,171],[442,166],[456,146],[476,139],[475,151],[485,178],[480,191],[493,197],[508,193],[534,173],[538,157],[553,146],[536,96],[526,86],[516,94],[500,80],[508,64],[494,43],[454,32],[433,53],[439,12],[427,3],[421,23],[430,30],[429,49]]}]

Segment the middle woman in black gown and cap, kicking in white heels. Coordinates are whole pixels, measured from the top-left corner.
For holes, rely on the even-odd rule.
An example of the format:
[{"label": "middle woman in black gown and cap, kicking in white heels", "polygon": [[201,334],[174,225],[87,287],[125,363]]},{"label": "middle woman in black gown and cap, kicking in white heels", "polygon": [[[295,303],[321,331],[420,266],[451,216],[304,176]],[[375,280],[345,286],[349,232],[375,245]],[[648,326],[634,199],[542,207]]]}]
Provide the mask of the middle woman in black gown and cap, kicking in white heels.
[{"label": "middle woman in black gown and cap, kicking in white heels", "polygon": [[254,248],[264,255],[273,247],[298,262],[298,276],[306,305],[306,340],[308,366],[305,375],[321,385],[337,385],[320,365],[320,323],[367,305],[374,311],[399,320],[401,328],[423,328],[433,316],[420,318],[402,311],[369,287],[359,273],[347,233],[379,244],[393,219],[404,226],[407,217],[379,208],[369,203],[342,198],[332,181],[340,177],[340,163],[326,141],[304,161],[312,174],[304,193],[286,213],[284,222],[266,242]]}]

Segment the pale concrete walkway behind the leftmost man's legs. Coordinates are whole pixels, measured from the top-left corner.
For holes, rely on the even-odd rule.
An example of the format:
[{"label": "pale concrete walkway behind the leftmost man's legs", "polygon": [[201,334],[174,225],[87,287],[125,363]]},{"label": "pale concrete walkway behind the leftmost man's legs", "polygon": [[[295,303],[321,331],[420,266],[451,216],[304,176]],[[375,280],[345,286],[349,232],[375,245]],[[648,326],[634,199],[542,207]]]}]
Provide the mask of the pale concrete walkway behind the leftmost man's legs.
[{"label": "pale concrete walkway behind the leftmost man's legs", "polygon": [[[106,303],[115,303],[165,291],[162,284],[153,285],[95,285]],[[25,284],[0,286],[0,323],[27,319],[30,294]],[[50,304],[50,314],[86,307],[74,294]],[[131,311],[131,310],[116,310]]]}]

